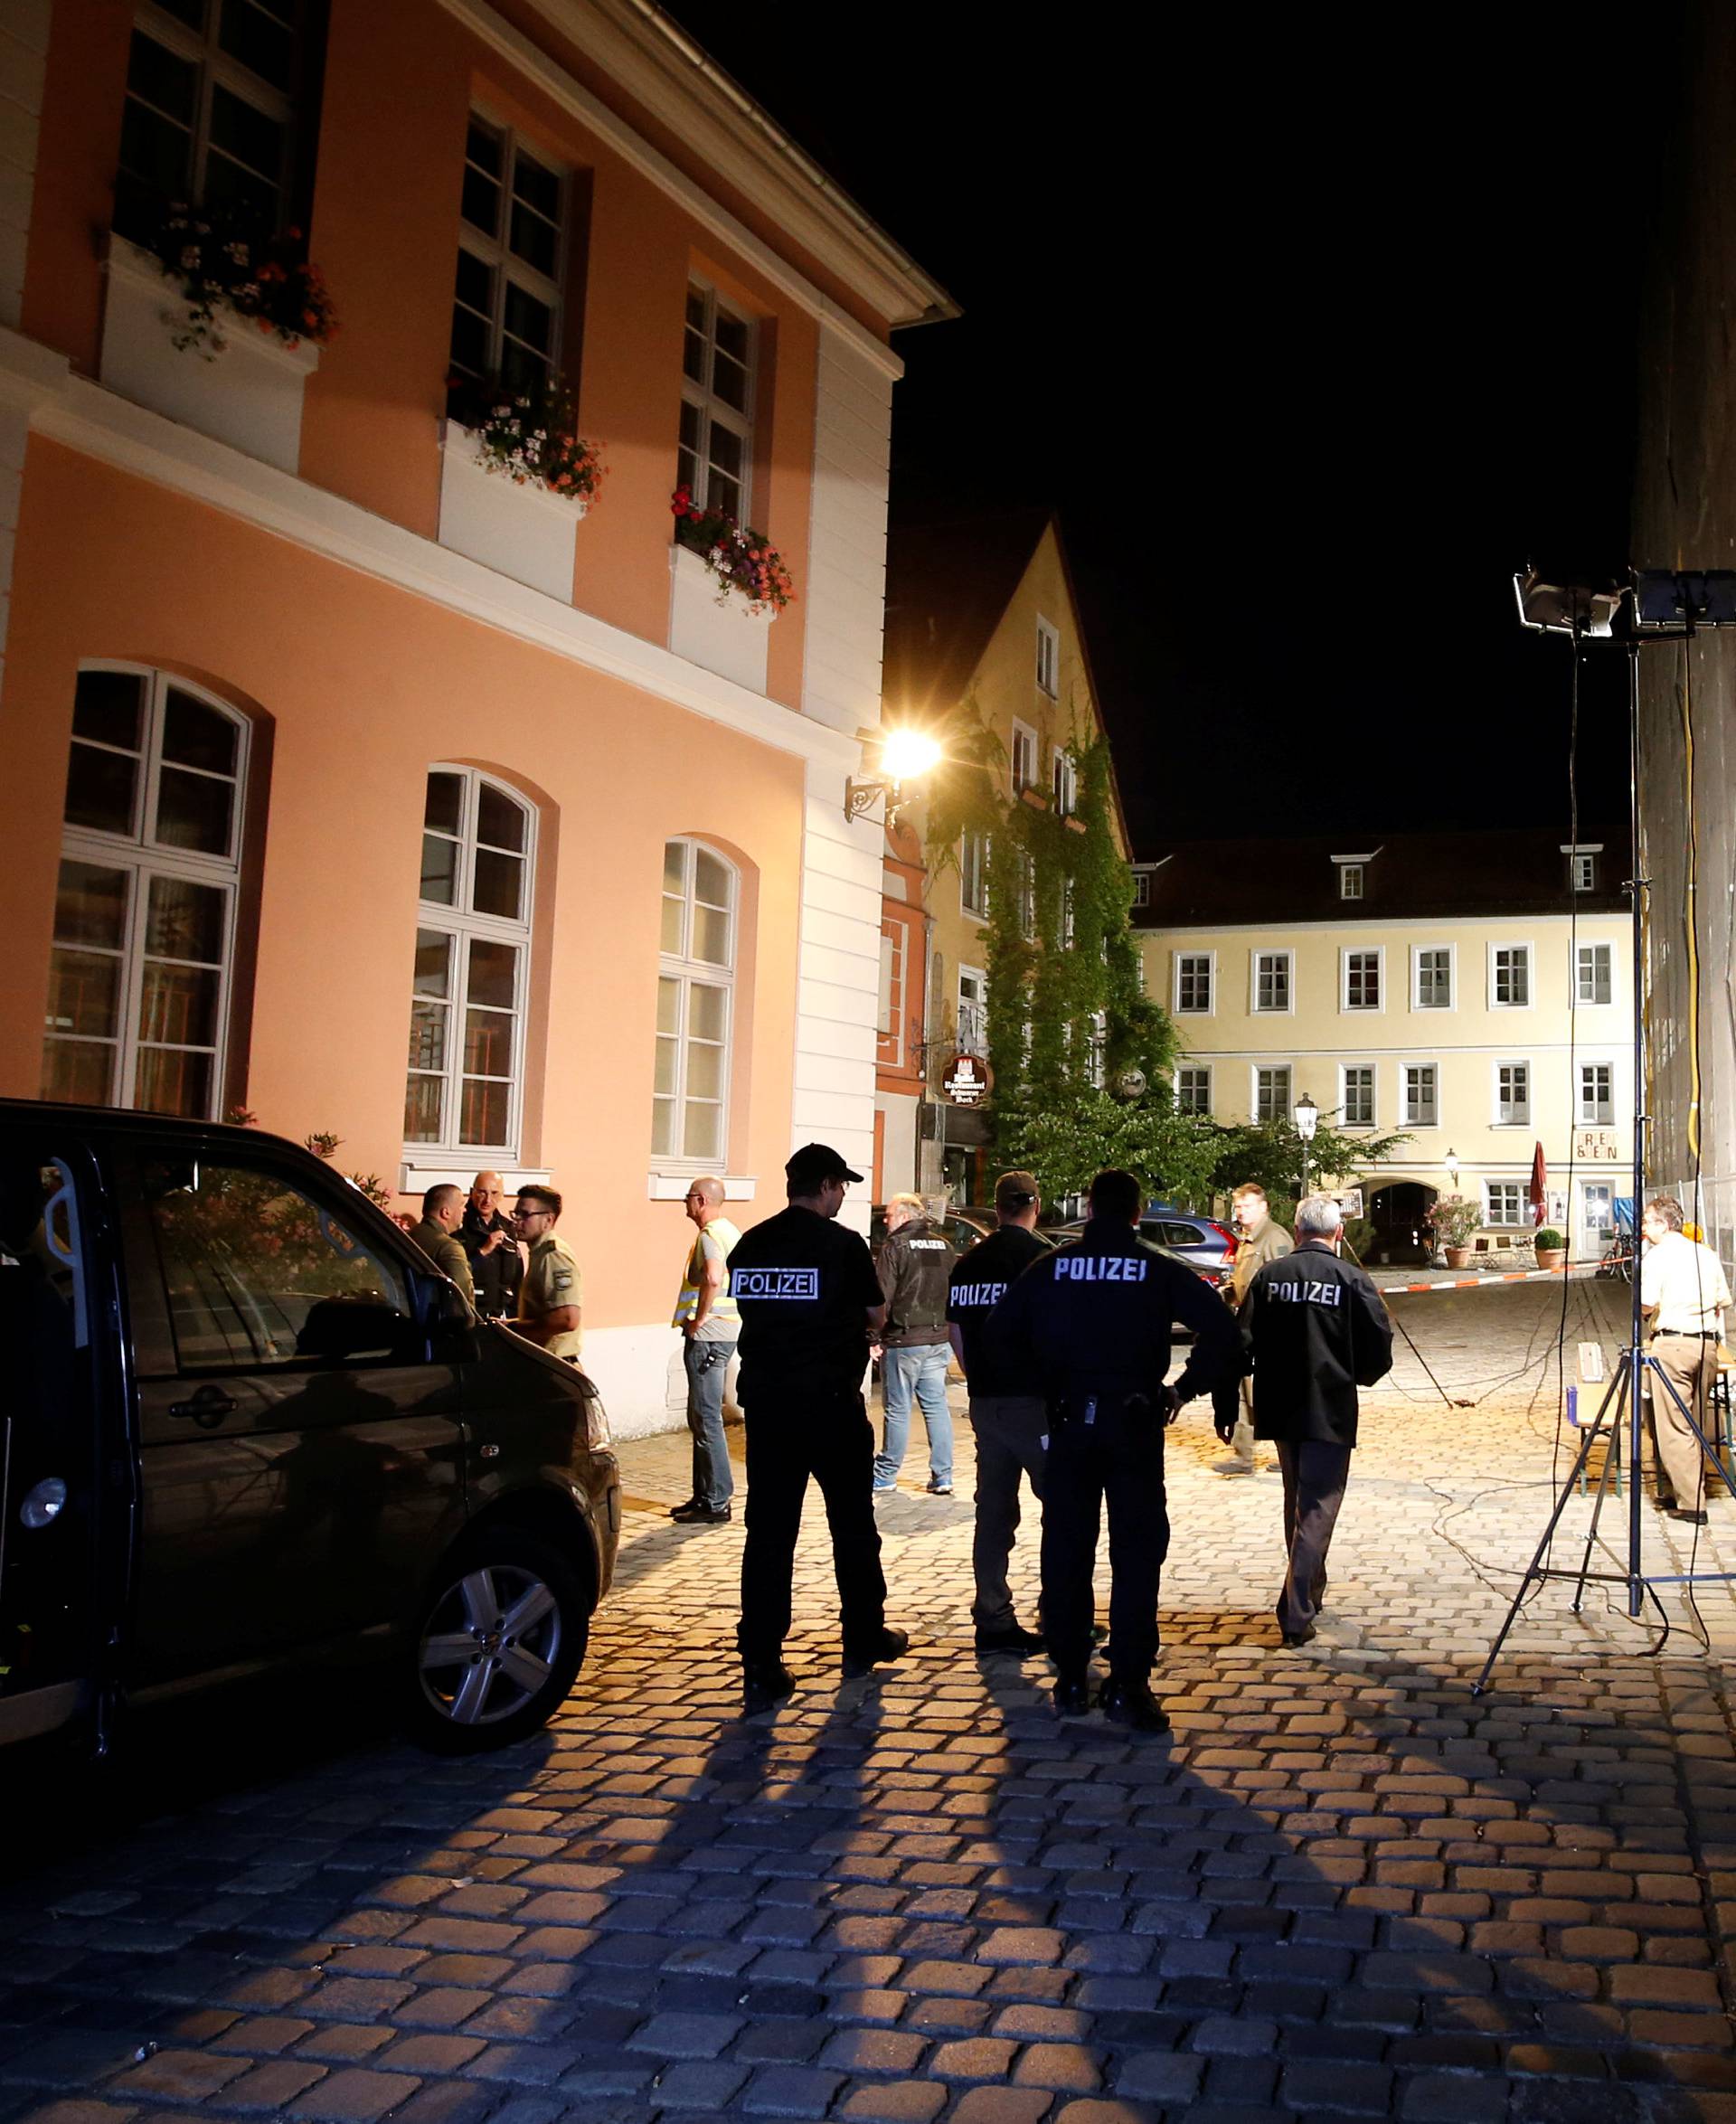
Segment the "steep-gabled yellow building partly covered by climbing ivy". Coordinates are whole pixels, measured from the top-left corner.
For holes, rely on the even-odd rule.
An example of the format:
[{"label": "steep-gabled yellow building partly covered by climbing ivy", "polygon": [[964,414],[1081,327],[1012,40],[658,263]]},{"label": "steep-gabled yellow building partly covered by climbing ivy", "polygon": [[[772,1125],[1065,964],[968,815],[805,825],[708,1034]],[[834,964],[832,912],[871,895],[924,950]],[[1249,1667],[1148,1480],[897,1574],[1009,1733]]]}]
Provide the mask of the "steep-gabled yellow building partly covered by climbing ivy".
[{"label": "steep-gabled yellow building partly covered by climbing ivy", "polygon": [[[884,720],[939,729],[971,703],[1001,746],[1001,792],[1069,811],[1073,756],[1103,733],[1103,712],[1054,516],[1003,512],[895,525],[886,576]],[[926,847],[922,801],[907,805],[903,818]],[[1120,805],[1116,839],[1126,854]],[[924,1060],[909,1090],[888,1081],[899,1054],[884,1034],[888,1022],[909,1030],[912,1013],[907,1007],[899,1013],[888,1000],[897,990],[882,983],[875,1200],[903,1187],[924,1194],[948,1187],[956,1202],[984,1200],[984,1119],[941,1098],[939,1085],[960,1049],[982,1056],[988,1043],[982,928],[988,837],[965,835],[952,858],[931,862],[924,877]],[[890,862],[886,888],[882,935],[888,960],[903,966],[907,907],[897,905],[903,888]],[[909,994],[907,973],[892,979]]]}]

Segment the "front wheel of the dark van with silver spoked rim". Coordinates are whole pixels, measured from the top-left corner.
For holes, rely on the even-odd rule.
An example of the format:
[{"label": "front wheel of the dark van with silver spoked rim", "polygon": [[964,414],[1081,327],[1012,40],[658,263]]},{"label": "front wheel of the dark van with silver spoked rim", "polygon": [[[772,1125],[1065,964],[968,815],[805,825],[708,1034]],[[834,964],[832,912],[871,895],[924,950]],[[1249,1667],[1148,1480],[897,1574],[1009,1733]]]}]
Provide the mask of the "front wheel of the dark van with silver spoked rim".
[{"label": "front wheel of the dark van with silver spoked rim", "polygon": [[410,1640],[412,1735],[440,1754],[506,1748],[548,1725],[591,1631],[584,1582],[548,1542],[491,1527],[442,1563]]}]

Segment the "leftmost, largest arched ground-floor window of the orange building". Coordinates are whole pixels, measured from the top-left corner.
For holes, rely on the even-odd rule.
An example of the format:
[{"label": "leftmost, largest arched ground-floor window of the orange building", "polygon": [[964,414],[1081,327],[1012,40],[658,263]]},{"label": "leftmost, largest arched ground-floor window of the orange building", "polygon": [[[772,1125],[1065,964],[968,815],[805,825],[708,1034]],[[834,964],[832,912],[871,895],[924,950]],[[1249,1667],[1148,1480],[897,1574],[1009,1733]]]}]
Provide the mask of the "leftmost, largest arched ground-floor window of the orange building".
[{"label": "leftmost, largest arched ground-floor window of the orange building", "polygon": [[234,709],[166,671],[79,673],[42,1098],[219,1111],[244,773]]}]

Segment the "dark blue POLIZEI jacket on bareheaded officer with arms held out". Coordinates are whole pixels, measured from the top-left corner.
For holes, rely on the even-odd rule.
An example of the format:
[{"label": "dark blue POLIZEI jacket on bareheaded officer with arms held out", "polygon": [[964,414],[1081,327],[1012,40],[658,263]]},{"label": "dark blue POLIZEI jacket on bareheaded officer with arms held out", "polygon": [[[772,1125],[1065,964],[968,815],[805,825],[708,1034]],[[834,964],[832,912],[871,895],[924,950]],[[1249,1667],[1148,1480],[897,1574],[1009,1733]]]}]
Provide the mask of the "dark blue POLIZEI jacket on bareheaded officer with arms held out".
[{"label": "dark blue POLIZEI jacket on bareheaded officer with arms held out", "polygon": [[1194,1349],[1181,1400],[1241,1376],[1241,1338],[1222,1298],[1128,1223],[1092,1217],[1084,1236],[1033,1262],[994,1306],[992,1334],[1028,1393],[1147,1393],[1169,1372],[1169,1330],[1184,1321]]}]

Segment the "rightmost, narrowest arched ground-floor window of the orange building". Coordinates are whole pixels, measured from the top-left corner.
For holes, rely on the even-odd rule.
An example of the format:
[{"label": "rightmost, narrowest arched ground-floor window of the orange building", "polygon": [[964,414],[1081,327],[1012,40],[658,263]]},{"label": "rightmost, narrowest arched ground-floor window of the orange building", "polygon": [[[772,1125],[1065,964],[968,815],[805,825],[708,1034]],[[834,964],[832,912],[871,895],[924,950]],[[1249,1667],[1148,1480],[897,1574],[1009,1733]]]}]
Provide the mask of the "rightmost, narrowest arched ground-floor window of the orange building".
[{"label": "rightmost, narrowest arched ground-floor window of the orange building", "polygon": [[654,1158],[722,1166],[729,1155],[735,909],[733,864],[699,841],[663,845]]}]

